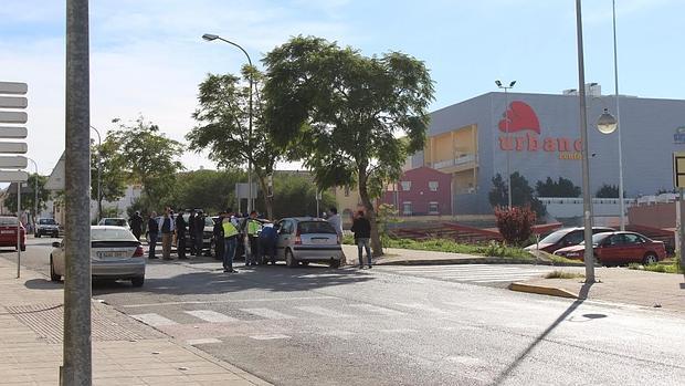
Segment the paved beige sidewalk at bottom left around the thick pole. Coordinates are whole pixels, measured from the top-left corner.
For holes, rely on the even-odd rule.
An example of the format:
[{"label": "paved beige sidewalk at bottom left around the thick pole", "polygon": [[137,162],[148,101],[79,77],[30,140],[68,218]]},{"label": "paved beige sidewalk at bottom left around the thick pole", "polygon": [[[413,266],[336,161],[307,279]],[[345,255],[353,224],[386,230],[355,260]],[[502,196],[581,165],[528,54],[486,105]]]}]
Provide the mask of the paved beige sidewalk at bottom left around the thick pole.
[{"label": "paved beige sidewalk at bottom left around the thick pole", "polygon": [[[0,385],[57,385],[63,289],[0,259]],[[94,385],[268,385],[255,376],[92,303]]]}]

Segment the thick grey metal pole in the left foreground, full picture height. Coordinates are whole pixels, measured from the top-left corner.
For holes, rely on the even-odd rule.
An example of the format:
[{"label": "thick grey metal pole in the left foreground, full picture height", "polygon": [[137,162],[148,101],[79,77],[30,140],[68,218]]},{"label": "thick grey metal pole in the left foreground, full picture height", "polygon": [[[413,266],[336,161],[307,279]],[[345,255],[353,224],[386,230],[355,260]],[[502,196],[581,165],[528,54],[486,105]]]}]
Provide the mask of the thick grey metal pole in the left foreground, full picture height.
[{"label": "thick grey metal pole in the left foreground, full picture height", "polygon": [[[66,0],[64,364],[61,385],[93,383],[88,0]],[[85,194],[87,192],[87,194]]]}]

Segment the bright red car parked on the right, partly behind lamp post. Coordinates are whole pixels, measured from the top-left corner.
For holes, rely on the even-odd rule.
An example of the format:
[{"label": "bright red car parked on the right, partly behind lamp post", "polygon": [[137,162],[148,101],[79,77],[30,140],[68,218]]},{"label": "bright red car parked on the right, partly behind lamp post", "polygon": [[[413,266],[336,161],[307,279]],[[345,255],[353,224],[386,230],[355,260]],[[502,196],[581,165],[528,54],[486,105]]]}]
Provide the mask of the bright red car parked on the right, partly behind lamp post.
[{"label": "bright red car parked on the right, partly behind lamp post", "polygon": [[[632,262],[652,264],[666,258],[663,241],[655,241],[635,232],[604,232],[592,236],[594,257],[603,265]],[[558,249],[555,254],[583,260],[584,244]]]}]

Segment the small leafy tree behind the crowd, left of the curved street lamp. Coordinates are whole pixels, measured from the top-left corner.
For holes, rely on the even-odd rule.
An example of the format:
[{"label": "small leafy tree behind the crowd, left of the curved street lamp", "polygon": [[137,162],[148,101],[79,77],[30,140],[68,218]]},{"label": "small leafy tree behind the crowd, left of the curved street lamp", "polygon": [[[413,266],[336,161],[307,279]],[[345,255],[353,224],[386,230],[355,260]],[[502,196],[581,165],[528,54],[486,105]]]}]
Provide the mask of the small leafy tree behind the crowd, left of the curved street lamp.
[{"label": "small leafy tree behind the crowd, left of the curved street lamp", "polygon": [[143,185],[148,209],[161,209],[162,198],[169,195],[176,173],[183,168],[177,160],[182,154],[181,144],[167,138],[159,126],[143,117],[131,125],[119,124],[109,138],[116,144],[120,157],[116,163],[122,166],[126,179]]}]

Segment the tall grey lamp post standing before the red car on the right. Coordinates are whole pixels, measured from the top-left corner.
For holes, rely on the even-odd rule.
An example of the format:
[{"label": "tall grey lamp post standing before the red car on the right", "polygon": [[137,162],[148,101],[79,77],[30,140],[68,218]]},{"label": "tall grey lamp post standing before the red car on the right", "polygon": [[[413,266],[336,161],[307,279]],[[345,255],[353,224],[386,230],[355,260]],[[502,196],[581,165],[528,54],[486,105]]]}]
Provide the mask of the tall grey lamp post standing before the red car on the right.
[{"label": "tall grey lamp post standing before the red car on the right", "polygon": [[582,52],[582,15],[580,0],[576,0],[576,30],[578,34],[578,95],[580,98],[580,140],[582,142],[582,211],[584,226],[586,283],[594,283],[594,250],[592,248],[592,216],[590,197],[590,160],[588,159],[588,118],[586,112],[586,69]]}]

